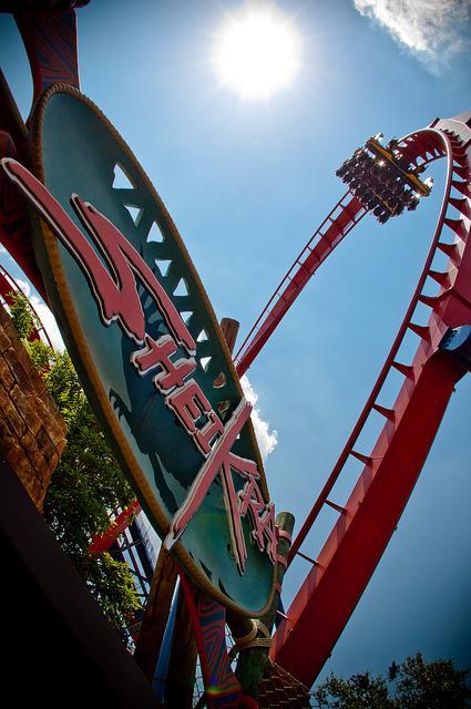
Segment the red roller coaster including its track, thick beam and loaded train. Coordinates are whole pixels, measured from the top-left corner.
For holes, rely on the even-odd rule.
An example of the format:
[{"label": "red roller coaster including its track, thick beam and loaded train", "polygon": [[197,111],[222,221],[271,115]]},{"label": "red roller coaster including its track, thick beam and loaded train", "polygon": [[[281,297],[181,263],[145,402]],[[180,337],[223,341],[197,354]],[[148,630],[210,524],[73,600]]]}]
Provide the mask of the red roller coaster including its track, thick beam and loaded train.
[{"label": "red roller coaster including its track, thick beam and loaded train", "polygon": [[[72,72],[71,83],[78,86],[76,73]],[[44,90],[44,84],[40,88]],[[18,126],[18,119],[14,121]],[[6,131],[7,125],[0,129]],[[21,155],[24,131],[10,131],[9,136],[10,143],[2,142],[8,148],[3,154],[10,155],[14,144],[16,154]],[[391,140],[387,146],[379,136],[368,138],[344,163],[337,174],[348,191],[294,260],[234,358],[242,377],[314,274],[368,214],[385,223],[417,208],[420,199],[430,194],[431,181],[422,181],[421,175],[438,160],[444,160],[447,176],[422,273],[371,393],[289,552],[288,566],[300,556],[311,567],[289,608],[281,614],[270,659],[306,687],[315,681],[367,587],[418,480],[457,382],[471,370],[471,112],[436,119],[427,127]],[[28,234],[21,230],[21,248],[12,245],[11,210],[4,207],[4,199],[2,204],[1,242],[41,289],[41,277],[28,251]],[[13,206],[19,223],[18,216],[23,218],[25,208],[17,203]],[[440,270],[434,268],[438,253],[448,258],[446,268]],[[434,295],[429,295],[431,281],[436,284]],[[419,325],[414,316],[423,306],[429,308],[430,317],[426,325]],[[417,336],[417,351],[411,361],[400,361],[398,353],[408,332]],[[399,372],[402,383],[393,404],[386,407],[381,394],[393,371]],[[370,417],[378,413],[383,419],[382,429],[371,450],[360,450],[360,434]],[[362,470],[347,502],[339,505],[331,493],[350,458],[359,461]],[[314,558],[306,540],[325,506],[338,517]],[[93,542],[93,551],[109,548],[137,508],[135,503],[129,515],[122,512],[119,524]],[[188,599],[190,592],[185,593]]]}]

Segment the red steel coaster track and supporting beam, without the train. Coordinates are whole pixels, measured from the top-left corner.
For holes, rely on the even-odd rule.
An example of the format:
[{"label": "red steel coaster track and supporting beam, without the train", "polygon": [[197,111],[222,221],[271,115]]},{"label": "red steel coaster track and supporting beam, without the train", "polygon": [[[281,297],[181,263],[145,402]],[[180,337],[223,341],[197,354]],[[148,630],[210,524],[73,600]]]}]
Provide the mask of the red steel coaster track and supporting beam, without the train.
[{"label": "red steel coaster track and supporting beam, without the train", "polygon": [[[370,397],[332,472],[295,540],[290,558],[300,554],[313,568],[275,634],[272,658],[310,686],[350,617],[397,526],[433,442],[447,404],[467,368],[439,348],[449,328],[471,323],[471,113],[431,126],[400,141],[401,153],[414,165],[446,157],[447,184],[430,251],[410,306]],[[458,214],[457,214],[458,213]],[[354,197],[344,197],[324,220],[275,291],[236,354],[243,374],[317,268],[366,214]],[[446,229],[453,234],[447,240]],[[443,233],[444,232],[444,233]],[[443,273],[432,270],[437,249],[448,257]],[[424,295],[428,278],[439,284]],[[428,325],[413,322],[418,304],[431,310]],[[408,330],[419,338],[411,363],[397,361]],[[391,369],[403,376],[392,408],[380,403]],[[357,440],[376,411],[385,425],[369,453]],[[427,415],[424,415],[427,412]],[[364,470],[345,506],[329,500],[349,456]],[[324,505],[339,513],[317,559],[299,549]]]}]

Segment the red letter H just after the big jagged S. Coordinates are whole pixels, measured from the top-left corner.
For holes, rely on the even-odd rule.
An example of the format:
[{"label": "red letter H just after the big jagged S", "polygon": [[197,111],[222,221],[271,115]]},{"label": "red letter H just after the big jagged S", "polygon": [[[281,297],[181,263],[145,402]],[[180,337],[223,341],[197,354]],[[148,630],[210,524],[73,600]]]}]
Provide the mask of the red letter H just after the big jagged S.
[{"label": "red letter H just after the big jagged S", "polygon": [[163,335],[156,341],[146,335],[145,348],[133,352],[131,361],[141,376],[160,367],[162,371],[155,374],[152,381],[162,393],[167,393],[175,387],[183,387],[185,379],[196,369],[193,358],[181,358],[175,362],[171,360],[177,349],[175,340],[170,335]]}]

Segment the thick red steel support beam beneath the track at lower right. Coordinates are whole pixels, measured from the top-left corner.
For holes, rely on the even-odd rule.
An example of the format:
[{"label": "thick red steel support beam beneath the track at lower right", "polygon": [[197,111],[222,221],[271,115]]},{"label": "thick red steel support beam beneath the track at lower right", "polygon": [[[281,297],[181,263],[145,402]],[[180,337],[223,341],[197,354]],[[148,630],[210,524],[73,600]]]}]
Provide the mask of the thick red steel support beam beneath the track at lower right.
[{"label": "thick red steel support beam beneath the track at lower right", "polygon": [[[275,634],[273,658],[310,687],[381,558],[420,474],[457,381],[449,354],[424,364],[380,464],[366,466],[332,533]],[[427,415],[424,412],[427,411]],[[387,424],[387,430],[393,427]]]}]

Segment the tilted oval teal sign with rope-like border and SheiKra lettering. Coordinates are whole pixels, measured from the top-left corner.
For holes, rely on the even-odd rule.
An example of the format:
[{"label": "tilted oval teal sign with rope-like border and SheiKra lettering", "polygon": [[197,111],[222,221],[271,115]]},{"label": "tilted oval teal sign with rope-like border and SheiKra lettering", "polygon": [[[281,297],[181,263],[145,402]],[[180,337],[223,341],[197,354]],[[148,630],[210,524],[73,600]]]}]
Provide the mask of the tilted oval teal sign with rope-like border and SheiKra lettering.
[{"label": "tilted oval teal sign with rope-like border and SheiKra lettering", "polygon": [[[270,602],[274,508],[211,304],[162,201],[100,111],[48,90],[34,172],[3,168],[40,212],[35,251],[64,340],[152,524],[234,610]],[[113,187],[116,171],[129,188]]]}]

